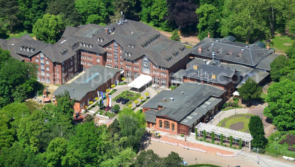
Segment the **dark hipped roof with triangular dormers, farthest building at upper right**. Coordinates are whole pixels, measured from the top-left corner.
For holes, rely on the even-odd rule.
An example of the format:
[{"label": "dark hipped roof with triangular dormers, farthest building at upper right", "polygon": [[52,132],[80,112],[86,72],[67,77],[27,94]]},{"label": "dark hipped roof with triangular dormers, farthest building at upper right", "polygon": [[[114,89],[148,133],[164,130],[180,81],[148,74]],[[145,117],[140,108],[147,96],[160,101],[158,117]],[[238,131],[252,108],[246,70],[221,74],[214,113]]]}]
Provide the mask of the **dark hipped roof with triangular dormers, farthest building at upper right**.
[{"label": "dark hipped roof with triangular dormers, farthest building at upper right", "polygon": [[[212,46],[212,44],[214,45]],[[199,46],[201,46],[203,50],[201,53],[198,52]],[[243,52],[242,49],[244,49]],[[212,58],[212,52],[215,52],[216,55],[214,59],[227,60],[249,66],[256,66],[261,60],[266,58],[266,56],[274,52],[273,49],[260,48],[256,45],[230,42],[224,38],[216,39],[208,37],[201,40],[201,42],[196,44],[191,50],[192,54],[210,58]]]}]

